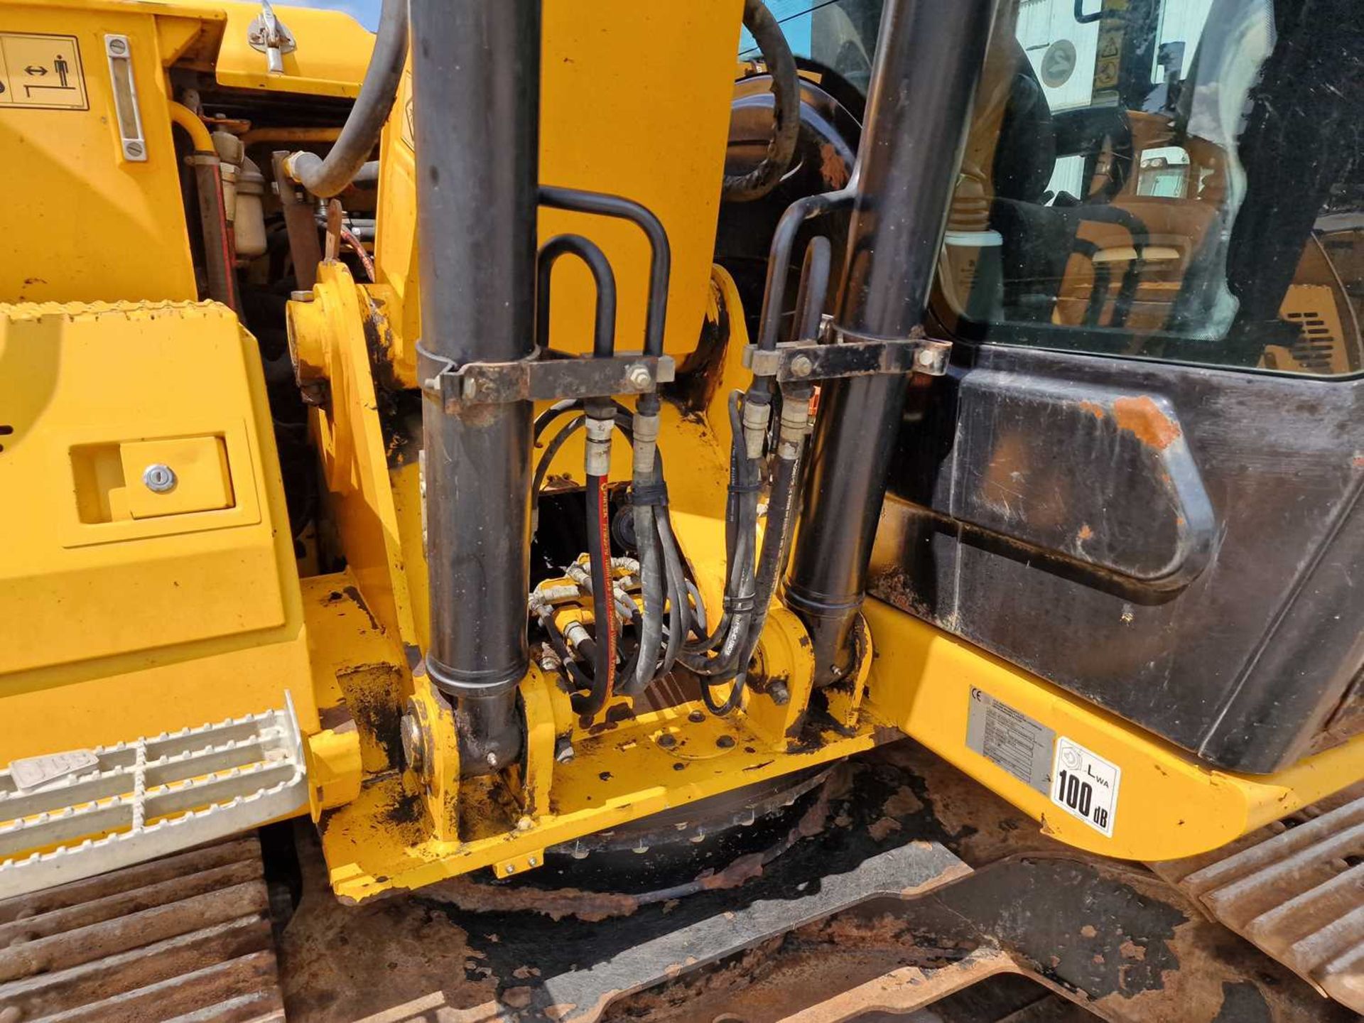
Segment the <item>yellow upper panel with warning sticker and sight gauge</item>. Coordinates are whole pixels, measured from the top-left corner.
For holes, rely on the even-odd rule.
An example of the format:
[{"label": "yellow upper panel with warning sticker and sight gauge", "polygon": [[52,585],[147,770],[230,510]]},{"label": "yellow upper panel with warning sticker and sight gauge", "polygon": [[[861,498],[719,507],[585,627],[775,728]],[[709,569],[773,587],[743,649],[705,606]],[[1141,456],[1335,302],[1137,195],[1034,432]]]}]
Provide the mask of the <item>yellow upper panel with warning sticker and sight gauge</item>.
[{"label": "yellow upper panel with warning sticker and sight gauge", "polygon": [[[0,104],[0,301],[196,299],[153,5],[0,5],[5,34],[70,40],[89,109]],[[128,37],[147,158],[123,158],[104,37]],[[60,53],[53,53],[55,57]],[[49,61],[37,80],[57,80]],[[40,65],[34,65],[40,67]]]}]

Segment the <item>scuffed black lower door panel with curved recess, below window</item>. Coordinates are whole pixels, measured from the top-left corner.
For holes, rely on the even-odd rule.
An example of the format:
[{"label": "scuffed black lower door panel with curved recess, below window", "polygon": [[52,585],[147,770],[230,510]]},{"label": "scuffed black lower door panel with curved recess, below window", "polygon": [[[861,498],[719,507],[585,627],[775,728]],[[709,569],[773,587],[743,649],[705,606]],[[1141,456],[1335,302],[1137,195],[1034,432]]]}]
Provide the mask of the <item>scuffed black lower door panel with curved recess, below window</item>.
[{"label": "scuffed black lower door panel with curved recess, below window", "polygon": [[[1222,767],[1267,772],[1300,756],[1360,666],[1359,381],[990,345],[959,357],[970,366],[911,398],[873,592]],[[1039,446],[1050,406],[1000,401],[1005,378],[1146,394],[1168,413],[1103,432],[1091,416],[1093,442]],[[1073,570],[1078,547],[1118,550],[1114,540],[1144,573],[1174,552],[1168,491],[1133,471],[1138,445],[1162,460],[1187,445],[1211,501],[1217,548],[1178,592],[1118,592]],[[948,499],[953,480],[977,491],[977,507],[1003,516],[1007,502],[1011,532],[1052,537],[1057,557],[967,529],[953,518],[964,495]],[[1064,501],[1016,499],[1046,480]],[[1165,525],[1138,531],[1138,512]],[[1114,521],[1136,532],[1112,536]]]}]

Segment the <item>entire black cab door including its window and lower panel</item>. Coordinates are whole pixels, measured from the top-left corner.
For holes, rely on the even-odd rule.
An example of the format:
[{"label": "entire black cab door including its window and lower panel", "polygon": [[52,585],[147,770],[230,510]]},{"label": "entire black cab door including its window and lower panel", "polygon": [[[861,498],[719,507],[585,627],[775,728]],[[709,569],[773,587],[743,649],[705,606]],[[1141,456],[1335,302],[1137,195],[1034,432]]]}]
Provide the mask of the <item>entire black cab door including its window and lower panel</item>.
[{"label": "entire black cab door including its window and lower panel", "polygon": [[1225,768],[1352,731],[1364,10],[1005,0],[873,593]]}]

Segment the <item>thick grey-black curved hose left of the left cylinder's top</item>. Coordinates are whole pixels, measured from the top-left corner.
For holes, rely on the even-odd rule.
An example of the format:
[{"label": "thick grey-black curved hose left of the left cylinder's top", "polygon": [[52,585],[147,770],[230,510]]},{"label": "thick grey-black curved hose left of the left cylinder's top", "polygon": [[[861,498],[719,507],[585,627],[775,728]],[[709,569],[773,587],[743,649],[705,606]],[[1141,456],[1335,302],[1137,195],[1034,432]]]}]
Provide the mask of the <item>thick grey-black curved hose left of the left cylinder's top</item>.
[{"label": "thick grey-black curved hose left of the left cylinder's top", "polygon": [[379,142],[379,132],[383,131],[383,123],[398,94],[406,59],[408,0],[383,0],[379,34],[351,116],[345,119],[341,135],[326,158],[308,151],[289,157],[286,166],[295,181],[314,195],[329,199],[355,180]]}]

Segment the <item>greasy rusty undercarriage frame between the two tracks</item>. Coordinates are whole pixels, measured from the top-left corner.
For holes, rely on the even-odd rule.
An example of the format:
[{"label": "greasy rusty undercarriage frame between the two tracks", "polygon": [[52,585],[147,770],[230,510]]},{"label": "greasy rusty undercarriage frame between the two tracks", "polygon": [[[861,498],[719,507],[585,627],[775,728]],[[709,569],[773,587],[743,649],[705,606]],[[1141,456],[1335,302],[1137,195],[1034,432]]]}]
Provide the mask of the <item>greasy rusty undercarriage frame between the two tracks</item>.
[{"label": "greasy rusty undercarriage frame between the two tracks", "polygon": [[[640,964],[638,947],[696,926],[737,928],[772,900],[795,913],[803,899],[822,898],[821,888],[903,855],[898,850],[913,842],[936,843],[975,873],[825,917],[711,966],[700,962],[715,951],[709,940],[679,947],[651,962],[652,986],[617,990],[638,982],[638,973],[623,970]],[[1000,973],[1027,974],[1121,1023],[1352,1019],[1158,878],[1065,850],[908,742],[855,760],[835,783],[824,828],[761,873],[674,903],[600,896],[566,917],[552,903],[527,911],[525,889],[487,885],[481,911],[450,904],[439,888],[345,907],[327,891],[315,848],[301,861],[304,896],[281,945],[293,1023],[825,1023],[910,1012]]]}]

